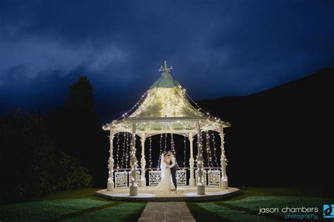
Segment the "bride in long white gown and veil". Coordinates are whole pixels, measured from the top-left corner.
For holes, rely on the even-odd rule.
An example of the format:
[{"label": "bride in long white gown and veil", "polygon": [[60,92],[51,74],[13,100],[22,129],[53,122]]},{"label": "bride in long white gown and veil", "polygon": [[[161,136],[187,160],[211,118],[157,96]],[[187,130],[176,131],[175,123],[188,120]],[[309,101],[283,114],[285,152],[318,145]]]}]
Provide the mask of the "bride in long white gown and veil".
[{"label": "bride in long white gown and veil", "polygon": [[154,191],[156,192],[170,192],[175,190],[175,185],[171,180],[171,169],[169,168],[169,163],[171,162],[171,157],[167,156],[167,152],[164,151],[161,154],[161,181]]}]

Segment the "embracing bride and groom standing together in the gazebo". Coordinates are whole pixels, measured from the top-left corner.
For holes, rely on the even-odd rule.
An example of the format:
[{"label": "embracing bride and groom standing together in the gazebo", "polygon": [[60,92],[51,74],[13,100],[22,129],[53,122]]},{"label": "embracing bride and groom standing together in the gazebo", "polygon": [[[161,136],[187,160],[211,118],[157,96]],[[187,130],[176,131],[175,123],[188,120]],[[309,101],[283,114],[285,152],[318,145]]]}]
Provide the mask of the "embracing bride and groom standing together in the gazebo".
[{"label": "embracing bride and groom standing together in the gazebo", "polygon": [[161,181],[159,185],[156,187],[156,192],[170,192],[171,190],[176,190],[176,170],[178,168],[178,164],[176,163],[176,159],[173,151],[164,151],[161,154]]}]

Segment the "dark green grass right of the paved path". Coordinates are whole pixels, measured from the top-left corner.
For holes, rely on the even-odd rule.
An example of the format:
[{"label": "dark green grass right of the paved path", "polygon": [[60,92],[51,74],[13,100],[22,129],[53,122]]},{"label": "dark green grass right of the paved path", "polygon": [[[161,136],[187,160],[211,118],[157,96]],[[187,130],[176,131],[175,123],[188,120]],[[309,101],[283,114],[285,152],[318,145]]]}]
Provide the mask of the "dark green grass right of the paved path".
[{"label": "dark green grass right of the paved path", "polygon": [[[196,221],[287,221],[285,214],[259,215],[259,207],[282,209],[288,207],[318,207],[316,221],[323,220],[323,204],[334,204],[333,197],[322,197],[319,190],[310,188],[258,188],[251,187],[242,195],[225,201],[187,202]],[[311,213],[309,213],[311,214]],[[293,219],[302,221],[301,219]],[[312,221],[311,219],[304,219]]]}]

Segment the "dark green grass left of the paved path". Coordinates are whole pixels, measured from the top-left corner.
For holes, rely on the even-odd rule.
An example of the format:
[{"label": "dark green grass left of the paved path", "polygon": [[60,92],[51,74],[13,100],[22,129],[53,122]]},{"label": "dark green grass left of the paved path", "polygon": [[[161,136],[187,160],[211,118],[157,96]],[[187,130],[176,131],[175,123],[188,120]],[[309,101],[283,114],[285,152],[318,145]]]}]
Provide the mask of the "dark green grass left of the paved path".
[{"label": "dark green grass left of the paved path", "polygon": [[55,192],[30,202],[0,205],[0,221],[137,221],[146,202],[94,196],[101,189]]}]

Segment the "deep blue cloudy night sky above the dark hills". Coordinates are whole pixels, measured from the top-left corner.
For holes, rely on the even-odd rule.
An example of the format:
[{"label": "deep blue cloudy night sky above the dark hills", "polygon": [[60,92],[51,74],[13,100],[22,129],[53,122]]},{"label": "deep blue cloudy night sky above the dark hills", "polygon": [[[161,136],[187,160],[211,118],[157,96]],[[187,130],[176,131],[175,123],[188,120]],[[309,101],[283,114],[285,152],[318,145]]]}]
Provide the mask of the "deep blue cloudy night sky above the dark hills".
[{"label": "deep blue cloudy night sky above the dark hills", "polygon": [[333,39],[334,1],[0,1],[0,113],[87,75],[105,123],[165,60],[194,100],[252,94],[333,67]]}]

